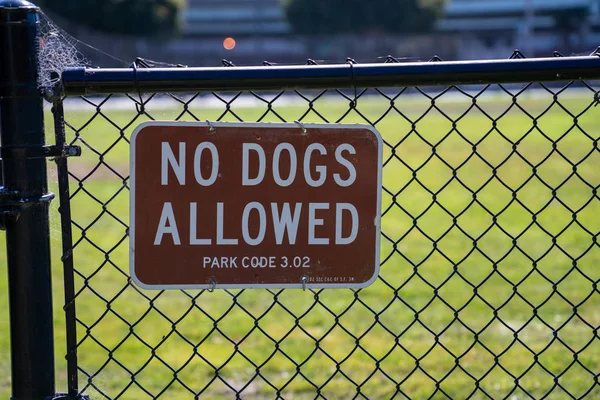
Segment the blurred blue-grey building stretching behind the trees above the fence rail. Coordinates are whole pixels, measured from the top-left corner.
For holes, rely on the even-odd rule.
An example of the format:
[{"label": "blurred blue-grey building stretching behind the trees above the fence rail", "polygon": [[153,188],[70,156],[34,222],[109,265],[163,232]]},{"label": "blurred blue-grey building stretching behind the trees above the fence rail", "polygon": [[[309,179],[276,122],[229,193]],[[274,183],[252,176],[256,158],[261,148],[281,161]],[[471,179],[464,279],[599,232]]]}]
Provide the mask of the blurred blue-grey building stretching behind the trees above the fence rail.
[{"label": "blurred blue-grey building stretching behind the trees above the fence rail", "polygon": [[[369,62],[387,55],[406,61],[433,55],[490,59],[507,58],[517,48],[526,56],[550,56],[554,50],[570,55],[600,45],[600,0],[447,0],[443,16],[427,34],[369,34],[357,29],[311,37],[294,33],[281,1],[187,0],[180,15],[181,35],[172,38],[124,37],[59,17],[56,22],[126,62],[141,56],[190,66],[218,66],[223,59],[236,65],[265,60],[303,63],[307,58],[344,62],[346,57]],[[96,61],[97,55],[88,58],[96,65],[111,62]]]}]

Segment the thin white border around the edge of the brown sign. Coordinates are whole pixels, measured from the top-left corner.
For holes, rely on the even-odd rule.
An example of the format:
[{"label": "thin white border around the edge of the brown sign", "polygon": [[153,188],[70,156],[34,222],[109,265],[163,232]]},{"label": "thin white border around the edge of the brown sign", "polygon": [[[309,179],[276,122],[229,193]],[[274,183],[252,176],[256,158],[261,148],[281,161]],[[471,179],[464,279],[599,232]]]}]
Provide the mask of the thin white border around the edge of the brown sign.
[{"label": "thin white border around the edge of the brown sign", "polygon": [[[377,169],[377,219],[376,228],[377,235],[375,239],[375,272],[373,276],[366,282],[362,283],[310,283],[306,284],[299,283],[256,283],[256,284],[221,284],[218,282],[213,286],[207,284],[195,284],[195,285],[148,285],[138,279],[135,274],[135,141],[137,135],[147,126],[204,126],[214,127],[231,127],[231,128],[296,128],[301,129],[297,123],[269,123],[269,122],[187,122],[187,121],[145,121],[139,124],[131,134],[131,144],[129,150],[129,170],[130,170],[130,196],[129,196],[129,274],[131,279],[136,285],[143,289],[149,290],[163,290],[163,289],[285,289],[285,288],[306,288],[306,289],[324,289],[324,288],[347,288],[347,289],[361,289],[371,285],[379,276],[380,267],[380,254],[381,254],[381,174],[383,171],[383,139],[379,134],[379,131],[375,127],[367,124],[302,124],[302,127],[306,130],[309,129],[367,129],[375,135],[377,139],[377,153],[379,158],[379,168]],[[216,133],[218,134],[218,133]]]}]

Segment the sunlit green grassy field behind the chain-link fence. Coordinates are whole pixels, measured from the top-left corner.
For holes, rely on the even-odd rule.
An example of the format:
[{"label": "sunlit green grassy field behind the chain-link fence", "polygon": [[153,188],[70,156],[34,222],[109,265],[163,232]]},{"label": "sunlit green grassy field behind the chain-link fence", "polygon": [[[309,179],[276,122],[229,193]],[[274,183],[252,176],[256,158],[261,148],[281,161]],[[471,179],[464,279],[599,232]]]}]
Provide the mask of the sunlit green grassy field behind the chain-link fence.
[{"label": "sunlit green grassy field behind the chain-link fence", "polygon": [[[96,167],[102,159],[127,177],[125,138],[148,118],[106,107],[107,119],[93,106],[67,113],[84,147],[70,160],[83,180],[71,186],[79,364],[92,378],[80,374],[80,387],[92,398],[125,399],[234,398],[242,388],[244,399],[600,398],[600,108],[592,92],[569,89],[558,97],[562,106],[528,93],[518,107],[506,94],[474,107],[448,93],[435,101],[442,112],[423,96],[403,95],[394,105],[404,116],[380,96],[360,99],[360,114],[346,101],[314,103],[329,121],[376,122],[386,142],[381,279],[357,293],[129,285],[129,192],[113,171]],[[237,120],[205,101],[190,107],[200,120]],[[155,119],[182,112],[156,103],[148,106]],[[231,109],[244,121],[323,122],[304,115],[308,103],[276,100],[277,114],[266,103],[238,103]],[[58,202],[53,207],[64,389]],[[3,257],[0,397],[8,398]]]}]

